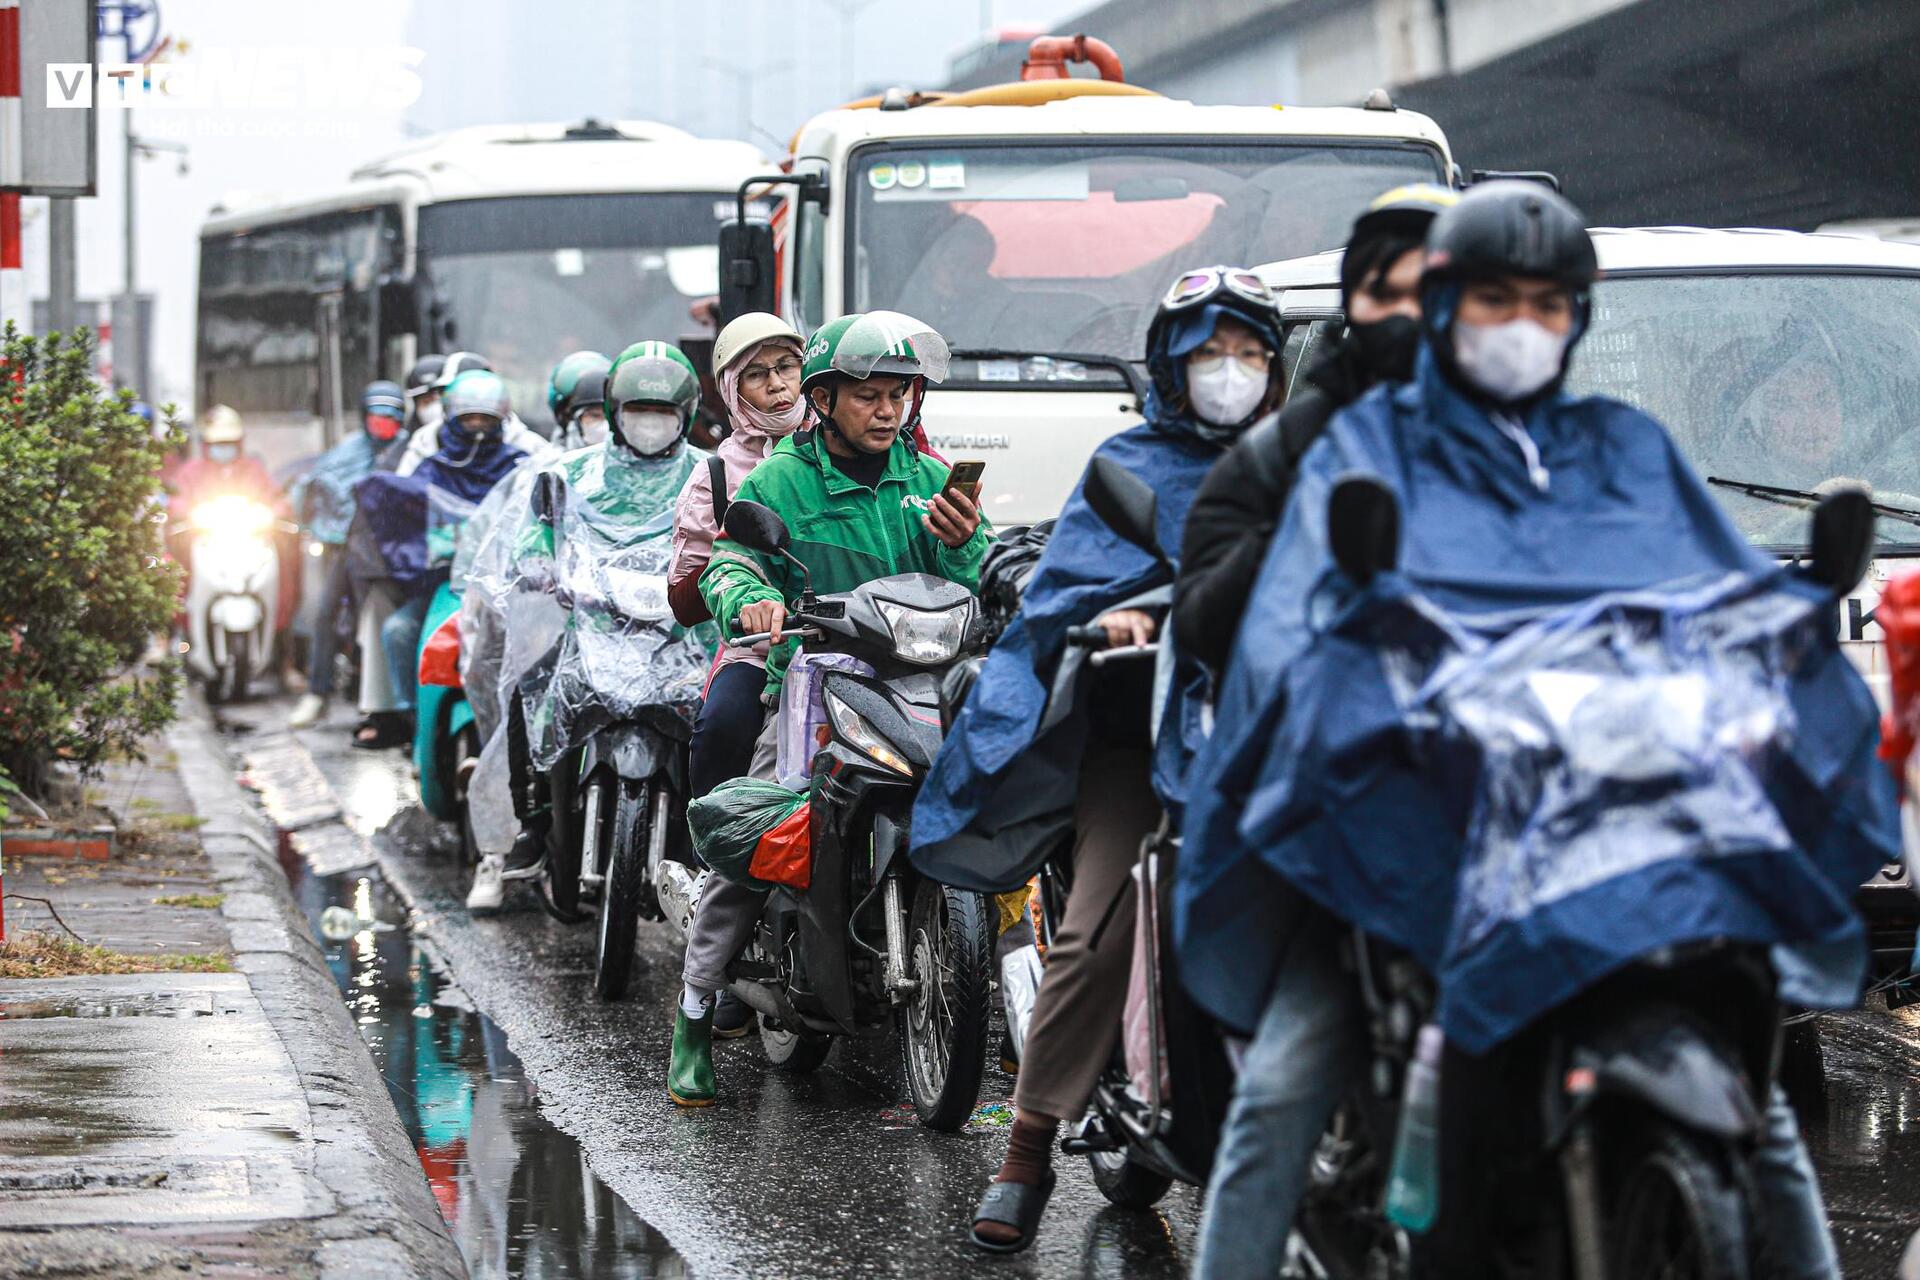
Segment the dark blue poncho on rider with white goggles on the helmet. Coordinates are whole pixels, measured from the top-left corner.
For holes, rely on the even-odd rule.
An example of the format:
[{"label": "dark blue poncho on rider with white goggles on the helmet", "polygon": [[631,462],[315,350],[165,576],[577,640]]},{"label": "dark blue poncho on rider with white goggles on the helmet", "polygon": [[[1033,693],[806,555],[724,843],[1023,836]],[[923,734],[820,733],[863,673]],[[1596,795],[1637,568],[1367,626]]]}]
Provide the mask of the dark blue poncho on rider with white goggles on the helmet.
[{"label": "dark blue poncho on rider with white goggles on the helmet", "polygon": [[[1196,307],[1165,326],[1165,359],[1175,386],[1185,359],[1212,336],[1225,307]],[[1279,332],[1267,342],[1279,349]],[[1173,413],[1158,386],[1146,422],[1102,443],[1112,459],[1152,486],[1158,543],[1179,562],[1187,509],[1231,438]],[[1083,480],[1085,484],[1085,480]],[[1046,551],[1027,583],[1020,612],[987,654],[973,691],[954,718],[933,770],[914,802],[912,860],[925,875],[964,889],[1006,892],[1025,885],[1054,839],[1071,827],[1073,793],[1087,739],[1087,708],[1054,718],[1043,735],[1048,689],[1066,652],[1069,628],[1167,581],[1165,570],[1119,537],[1087,505],[1081,486],[1068,499]],[[1162,628],[1162,645],[1171,631]],[[1154,789],[1177,806],[1183,773],[1200,745],[1206,677],[1198,664],[1173,660],[1154,748]],[[1035,750],[1043,745],[1041,750]]]}]

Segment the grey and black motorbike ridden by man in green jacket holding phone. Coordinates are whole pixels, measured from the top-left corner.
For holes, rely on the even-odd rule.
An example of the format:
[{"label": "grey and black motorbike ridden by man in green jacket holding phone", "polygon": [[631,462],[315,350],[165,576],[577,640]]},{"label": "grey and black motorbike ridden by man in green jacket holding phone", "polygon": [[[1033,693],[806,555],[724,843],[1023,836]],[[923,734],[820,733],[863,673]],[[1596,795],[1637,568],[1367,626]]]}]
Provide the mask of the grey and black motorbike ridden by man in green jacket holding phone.
[{"label": "grey and black motorbike ridden by man in green jacket holding phone", "polygon": [[[726,533],[801,570],[806,585],[783,629],[801,637],[803,652],[872,670],[826,670],[826,722],[781,723],[783,735],[816,733],[810,879],[766,894],[753,942],[730,967],[732,988],[760,1013],[776,1071],[816,1069],[839,1036],[897,1031],[920,1123],[956,1130],[985,1075],[996,912],[985,894],[922,877],[906,846],[914,796],[941,745],[943,676],[983,637],[977,601],[925,574],[814,595],[785,522],[760,503],[733,501]],[[655,883],[668,919],[685,931],[701,883],[672,862],[655,864]]]}]

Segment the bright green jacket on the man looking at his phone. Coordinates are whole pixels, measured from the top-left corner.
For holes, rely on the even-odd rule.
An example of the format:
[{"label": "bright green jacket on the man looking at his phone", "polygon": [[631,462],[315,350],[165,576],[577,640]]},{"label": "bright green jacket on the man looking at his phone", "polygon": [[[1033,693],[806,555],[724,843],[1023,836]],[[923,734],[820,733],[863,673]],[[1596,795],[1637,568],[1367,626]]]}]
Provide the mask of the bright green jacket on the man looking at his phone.
[{"label": "bright green jacket on the man looking at his phone", "polygon": [[[895,439],[877,489],[870,489],[828,459],[826,443],[812,430],[787,436],[741,482],[733,501],[772,507],[793,533],[793,555],[814,576],[814,591],[852,591],[891,574],[931,574],[979,589],[979,562],[993,541],[981,516],[973,537],[948,547],[920,524],[933,497],[947,486],[947,464],[906,439]],[[801,595],[801,574],[785,557],[749,551],[720,535],[712,560],[701,572],[701,599],[722,622],[724,635],[739,635],[739,610],[756,601],[787,608]],[[766,697],[780,693],[797,641],[781,641],[766,658]]]}]

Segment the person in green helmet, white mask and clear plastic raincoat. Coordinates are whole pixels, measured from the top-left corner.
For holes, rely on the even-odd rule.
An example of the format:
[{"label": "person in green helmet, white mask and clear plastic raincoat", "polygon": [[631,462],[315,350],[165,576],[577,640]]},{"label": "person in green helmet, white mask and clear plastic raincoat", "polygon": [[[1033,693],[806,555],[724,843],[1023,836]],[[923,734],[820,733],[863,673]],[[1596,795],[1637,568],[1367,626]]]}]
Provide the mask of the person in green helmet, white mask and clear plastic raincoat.
[{"label": "person in green helmet, white mask and clear plastic raincoat", "polygon": [[[593,378],[599,374],[588,372],[580,384],[589,386]],[[697,401],[699,378],[680,347],[636,342],[614,359],[605,374],[601,399],[601,413],[612,422],[612,430],[601,443],[574,449],[549,464],[534,484],[520,528],[503,532],[513,537],[515,564],[509,578],[515,589],[551,595],[553,583],[566,578],[559,558],[568,555],[618,557],[634,568],[649,560],[643,545],[655,541],[660,547],[660,568],[666,566],[674,497],[705,459],[685,443]],[[572,626],[570,612],[566,624]],[[682,628],[672,628],[672,633],[676,643],[687,635]],[[672,654],[676,660],[682,656],[680,649],[672,649]],[[501,685],[516,697],[509,697],[507,714],[501,716],[495,735],[501,745],[486,748],[507,754],[513,814],[520,829],[507,852],[482,846],[467,898],[467,906],[476,912],[499,908],[505,879],[540,862],[551,829],[551,796],[540,771],[545,766],[536,768],[532,752],[540,743],[547,745],[543,754],[551,754],[555,743],[568,743],[570,708],[593,704],[597,697],[593,689],[576,683],[568,683],[563,697],[553,695],[557,681],[582,679],[578,670],[563,666],[564,637],[543,656],[524,656],[538,660],[501,676]],[[547,720],[528,723],[536,712]],[[480,768],[488,768],[486,752]]]}]

